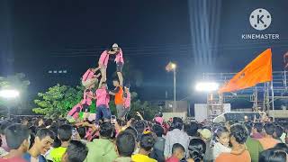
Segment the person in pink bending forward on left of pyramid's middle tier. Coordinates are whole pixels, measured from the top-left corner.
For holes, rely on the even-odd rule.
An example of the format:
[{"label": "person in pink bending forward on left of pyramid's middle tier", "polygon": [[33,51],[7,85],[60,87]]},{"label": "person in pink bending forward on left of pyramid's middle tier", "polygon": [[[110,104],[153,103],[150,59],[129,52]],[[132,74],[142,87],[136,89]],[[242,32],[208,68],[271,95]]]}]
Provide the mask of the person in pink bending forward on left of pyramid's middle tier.
[{"label": "person in pink bending forward on left of pyramid's middle tier", "polygon": [[85,86],[85,88],[88,88],[90,85],[94,85],[98,82],[98,77],[101,74],[95,75],[95,73],[100,69],[100,67],[97,68],[88,68],[85,74],[82,76],[82,85]]}]

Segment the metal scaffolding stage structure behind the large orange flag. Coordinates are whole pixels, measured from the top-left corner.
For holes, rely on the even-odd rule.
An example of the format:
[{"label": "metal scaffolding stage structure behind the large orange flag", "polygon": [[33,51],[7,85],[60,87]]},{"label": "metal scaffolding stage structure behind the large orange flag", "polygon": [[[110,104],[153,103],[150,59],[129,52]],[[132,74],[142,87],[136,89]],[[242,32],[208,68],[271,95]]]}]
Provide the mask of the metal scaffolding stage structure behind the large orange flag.
[{"label": "metal scaffolding stage structure behind the large orange flag", "polygon": [[[224,85],[236,74],[237,73],[203,73],[202,78],[203,81],[213,81]],[[258,84],[233,93],[218,94],[217,92],[212,92],[207,94],[207,111],[209,111],[208,114],[211,114],[208,119],[212,120],[224,112],[223,107],[226,100],[236,98],[247,98],[249,102],[253,103],[252,108],[255,112],[265,111],[275,118],[274,113],[270,111],[275,110],[275,100],[288,100],[287,75],[288,71],[275,71],[273,72],[272,82]]]}]

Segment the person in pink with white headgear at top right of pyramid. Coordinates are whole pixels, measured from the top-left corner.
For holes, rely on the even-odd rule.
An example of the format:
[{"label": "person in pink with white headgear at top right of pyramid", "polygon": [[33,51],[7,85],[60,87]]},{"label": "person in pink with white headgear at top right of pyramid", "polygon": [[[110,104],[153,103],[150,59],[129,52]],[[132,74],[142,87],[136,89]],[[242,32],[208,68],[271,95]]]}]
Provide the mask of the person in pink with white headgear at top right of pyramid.
[{"label": "person in pink with white headgear at top right of pyramid", "polygon": [[117,71],[117,76],[119,78],[120,85],[123,85],[123,76],[122,76],[122,69],[124,66],[124,58],[123,58],[123,52],[121,48],[118,46],[118,44],[114,43],[112,45],[112,51],[114,51],[116,57],[115,57],[115,62],[116,62],[116,71]]}]

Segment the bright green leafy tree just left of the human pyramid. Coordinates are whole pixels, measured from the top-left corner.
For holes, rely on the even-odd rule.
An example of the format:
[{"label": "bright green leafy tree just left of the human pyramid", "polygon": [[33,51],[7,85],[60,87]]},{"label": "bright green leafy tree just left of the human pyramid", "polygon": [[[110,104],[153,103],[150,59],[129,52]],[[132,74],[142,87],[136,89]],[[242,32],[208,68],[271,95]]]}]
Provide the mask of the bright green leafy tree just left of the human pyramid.
[{"label": "bright green leafy tree just left of the human pyramid", "polygon": [[45,93],[39,93],[34,103],[39,107],[32,109],[35,113],[44,114],[50,118],[65,117],[67,111],[83,97],[84,87],[76,88],[67,85],[49,87]]}]

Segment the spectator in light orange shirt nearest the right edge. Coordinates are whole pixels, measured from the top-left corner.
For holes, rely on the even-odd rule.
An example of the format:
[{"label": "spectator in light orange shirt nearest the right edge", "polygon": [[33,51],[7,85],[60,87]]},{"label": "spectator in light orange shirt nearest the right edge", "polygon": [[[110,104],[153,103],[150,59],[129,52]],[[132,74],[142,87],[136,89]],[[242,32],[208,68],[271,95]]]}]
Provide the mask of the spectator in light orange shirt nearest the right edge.
[{"label": "spectator in light orange shirt nearest the right edge", "polygon": [[274,148],[279,140],[273,138],[273,134],[275,132],[275,126],[273,123],[266,123],[264,126],[264,138],[259,139],[262,147],[264,149]]}]

